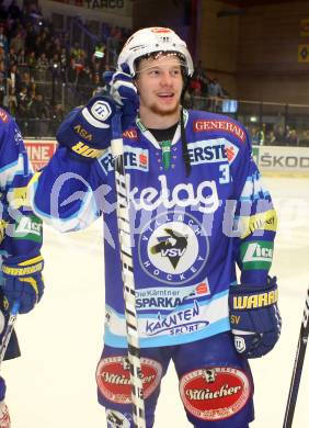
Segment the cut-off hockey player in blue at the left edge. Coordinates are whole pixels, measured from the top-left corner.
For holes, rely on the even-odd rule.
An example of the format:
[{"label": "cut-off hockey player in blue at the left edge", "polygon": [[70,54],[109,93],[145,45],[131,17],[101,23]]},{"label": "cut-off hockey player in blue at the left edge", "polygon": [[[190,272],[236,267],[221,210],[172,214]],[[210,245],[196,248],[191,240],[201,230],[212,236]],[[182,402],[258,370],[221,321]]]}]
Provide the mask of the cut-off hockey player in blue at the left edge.
[{"label": "cut-off hockey player in blue at the left edge", "polygon": [[[30,312],[42,297],[42,221],[23,207],[25,189],[32,177],[20,129],[0,109],[0,345],[14,303],[20,314]],[[20,356],[13,330],[4,360]],[[10,428],[4,403],[5,383],[0,376],[0,428]]]}]

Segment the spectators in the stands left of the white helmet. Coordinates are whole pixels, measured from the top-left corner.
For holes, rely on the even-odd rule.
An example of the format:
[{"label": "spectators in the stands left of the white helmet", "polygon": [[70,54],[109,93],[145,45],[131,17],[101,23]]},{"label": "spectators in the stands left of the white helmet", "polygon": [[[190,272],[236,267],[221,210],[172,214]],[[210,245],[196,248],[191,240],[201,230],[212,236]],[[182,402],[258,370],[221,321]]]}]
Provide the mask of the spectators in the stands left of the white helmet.
[{"label": "spectators in the stands left of the white helmet", "polygon": [[24,133],[50,134],[52,122],[57,126],[65,113],[62,83],[70,88],[69,108],[100,91],[127,36],[106,24],[102,40],[84,49],[67,31],[56,31],[38,7],[0,3],[0,105]]}]

